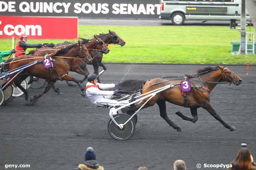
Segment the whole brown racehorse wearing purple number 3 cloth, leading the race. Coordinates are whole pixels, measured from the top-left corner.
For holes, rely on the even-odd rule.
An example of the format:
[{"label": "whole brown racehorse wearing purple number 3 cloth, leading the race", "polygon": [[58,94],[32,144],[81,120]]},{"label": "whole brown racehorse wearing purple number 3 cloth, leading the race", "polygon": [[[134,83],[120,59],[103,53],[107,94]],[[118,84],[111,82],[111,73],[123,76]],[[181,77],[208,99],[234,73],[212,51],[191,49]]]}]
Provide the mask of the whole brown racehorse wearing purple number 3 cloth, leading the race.
[{"label": "whole brown racehorse wearing purple number 3 cloth, leading the race", "polygon": [[[186,117],[181,112],[176,112],[176,115],[180,116],[183,120],[195,123],[198,120],[197,108],[202,107],[203,109],[207,110],[215,119],[221,122],[224,127],[228,128],[230,131],[236,130],[234,126],[230,126],[226,122],[224,122],[221,117],[216,113],[216,111],[212,108],[210,104],[210,92],[213,90],[213,88],[215,88],[217,84],[221,83],[230,83],[238,86],[242,83],[242,79],[237,76],[233,71],[223,66],[217,66],[216,68],[208,67],[204,69],[198,69],[197,74],[186,76],[191,84],[191,90],[187,95],[187,102],[185,100],[185,97],[182,95],[180,79],[166,80],[156,78],[152,80],[147,80],[146,82],[142,80],[137,80],[137,83],[135,83],[135,80],[132,80],[134,86],[130,83],[131,80],[126,80],[120,84],[117,84],[115,88],[118,88],[119,90],[127,90],[127,92],[130,93],[130,91],[138,90],[138,88],[143,86],[140,91],[142,94],[144,94],[149,91],[166,86],[168,84],[174,84],[174,87],[157,93],[145,104],[145,106],[143,106],[143,108],[158,104],[160,116],[178,132],[182,131],[181,128],[174,124],[174,122],[172,122],[167,116],[166,101],[179,106],[190,108],[193,118]],[[129,115],[132,115],[132,113],[137,111],[147,101],[147,99],[149,98],[143,99],[139,104],[131,107],[127,113]]]}]

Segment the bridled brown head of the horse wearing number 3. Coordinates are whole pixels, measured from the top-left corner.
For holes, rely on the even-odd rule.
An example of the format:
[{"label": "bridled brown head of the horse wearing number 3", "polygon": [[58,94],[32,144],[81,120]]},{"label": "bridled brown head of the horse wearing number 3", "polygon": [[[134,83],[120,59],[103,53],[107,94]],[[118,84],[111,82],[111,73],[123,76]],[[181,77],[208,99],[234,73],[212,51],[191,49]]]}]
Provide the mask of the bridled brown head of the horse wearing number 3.
[{"label": "bridled brown head of the horse wearing number 3", "polygon": [[231,69],[223,66],[218,66],[222,73],[222,79],[224,82],[230,82],[230,84],[240,85],[242,83],[242,79],[236,75]]}]

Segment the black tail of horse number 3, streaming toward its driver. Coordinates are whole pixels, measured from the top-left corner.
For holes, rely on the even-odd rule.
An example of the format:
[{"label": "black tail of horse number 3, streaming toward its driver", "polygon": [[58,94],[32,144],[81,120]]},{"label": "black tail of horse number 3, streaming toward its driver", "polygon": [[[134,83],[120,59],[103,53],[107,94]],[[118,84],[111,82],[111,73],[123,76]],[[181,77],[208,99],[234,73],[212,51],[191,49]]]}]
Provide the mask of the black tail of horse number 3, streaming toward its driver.
[{"label": "black tail of horse number 3, streaming toward its driver", "polygon": [[115,88],[111,88],[111,90],[119,89],[121,93],[133,94],[134,91],[142,89],[145,83],[145,80],[125,80],[124,82],[115,84]]}]

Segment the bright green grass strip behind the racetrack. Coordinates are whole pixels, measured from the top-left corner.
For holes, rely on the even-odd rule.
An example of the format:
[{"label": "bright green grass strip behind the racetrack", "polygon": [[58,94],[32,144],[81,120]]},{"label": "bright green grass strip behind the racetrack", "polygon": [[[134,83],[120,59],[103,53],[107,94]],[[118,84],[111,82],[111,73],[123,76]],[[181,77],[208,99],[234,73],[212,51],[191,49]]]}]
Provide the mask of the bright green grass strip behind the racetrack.
[{"label": "bright green grass strip behind the racetrack", "polygon": [[[231,55],[230,41],[239,40],[240,32],[229,26],[80,25],[79,37],[90,38],[109,29],[125,40],[126,45],[110,45],[110,53],[104,55],[103,62],[256,64],[256,55]],[[30,44],[63,41],[28,39]],[[0,49],[11,49],[11,39],[1,39]]]}]

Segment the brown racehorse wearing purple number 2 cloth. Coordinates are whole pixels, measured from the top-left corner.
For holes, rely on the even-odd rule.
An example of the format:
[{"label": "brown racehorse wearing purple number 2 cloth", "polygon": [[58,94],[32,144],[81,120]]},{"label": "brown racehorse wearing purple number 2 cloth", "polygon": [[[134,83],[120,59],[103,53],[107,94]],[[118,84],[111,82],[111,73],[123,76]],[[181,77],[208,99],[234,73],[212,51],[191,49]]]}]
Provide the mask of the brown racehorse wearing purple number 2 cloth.
[{"label": "brown racehorse wearing purple number 2 cloth", "polygon": [[[68,56],[68,57],[65,57],[65,56]],[[64,49],[59,50],[57,53],[50,55],[50,57],[54,59],[52,61],[54,66],[52,69],[45,69],[42,63],[35,64],[33,66],[30,66],[29,68],[24,69],[24,71],[22,71],[19,74],[11,74],[7,79],[7,81],[2,85],[2,88],[4,87],[3,90],[5,90],[8,86],[10,86],[14,82],[15,86],[17,86],[18,88],[20,88],[20,90],[24,92],[25,99],[27,101],[26,104],[29,104],[29,105],[33,104],[44,93],[48,92],[57,80],[74,81],[78,83],[78,86],[80,87],[81,91],[83,91],[84,89],[81,86],[79,80],[68,75],[70,70],[70,65],[74,60],[74,58],[77,56],[79,58],[83,58],[83,59],[88,58],[89,60],[92,60],[89,54],[89,51],[83,44],[81,44],[80,42],[77,44],[72,44],[71,46],[68,46]],[[34,61],[42,60],[42,59],[44,59],[44,57],[23,55],[23,56],[8,60],[7,62],[11,61],[9,63],[9,70],[13,70],[15,68],[19,68],[26,64],[30,64]],[[28,101],[28,91],[20,85],[20,83],[23,80],[25,80],[29,75],[33,75],[41,79],[46,79],[48,81],[46,88],[39,95],[30,97],[30,101]],[[5,86],[5,84],[7,85]]]}]

